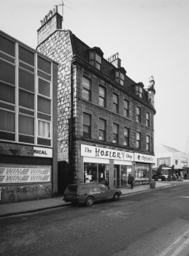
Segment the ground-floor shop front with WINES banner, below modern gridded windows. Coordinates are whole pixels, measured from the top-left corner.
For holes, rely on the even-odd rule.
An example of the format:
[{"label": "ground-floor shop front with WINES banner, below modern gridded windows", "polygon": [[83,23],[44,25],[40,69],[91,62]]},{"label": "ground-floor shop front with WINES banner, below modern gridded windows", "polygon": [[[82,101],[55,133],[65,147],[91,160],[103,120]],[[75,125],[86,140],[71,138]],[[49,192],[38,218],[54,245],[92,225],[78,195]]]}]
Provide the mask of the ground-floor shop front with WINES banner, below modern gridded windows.
[{"label": "ground-floor shop front with WINES banner, below modern gridded windows", "polygon": [[0,204],[52,196],[52,148],[4,143],[0,153]]}]

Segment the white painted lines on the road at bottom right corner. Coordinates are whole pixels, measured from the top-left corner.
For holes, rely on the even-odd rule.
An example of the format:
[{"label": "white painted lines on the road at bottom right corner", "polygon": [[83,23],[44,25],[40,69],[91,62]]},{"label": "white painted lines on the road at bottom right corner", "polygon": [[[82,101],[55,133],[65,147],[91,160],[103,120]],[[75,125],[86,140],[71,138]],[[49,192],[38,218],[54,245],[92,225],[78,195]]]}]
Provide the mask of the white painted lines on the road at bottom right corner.
[{"label": "white painted lines on the road at bottom right corner", "polygon": [[[182,234],[177,240],[175,240],[171,245],[168,246],[168,248],[166,248],[164,251],[162,251],[161,254],[159,254],[159,256],[165,256],[166,254],[168,254],[169,251],[171,251],[175,246],[178,245],[178,243],[181,241],[181,239],[184,238],[185,235],[189,236],[189,230],[187,230],[187,232],[184,232],[184,234]],[[185,238],[184,238],[185,239]],[[181,244],[177,250],[174,252],[174,254],[171,254],[171,256],[177,256],[181,250],[189,243],[189,238],[187,238],[187,240],[184,241],[183,244]]]}]

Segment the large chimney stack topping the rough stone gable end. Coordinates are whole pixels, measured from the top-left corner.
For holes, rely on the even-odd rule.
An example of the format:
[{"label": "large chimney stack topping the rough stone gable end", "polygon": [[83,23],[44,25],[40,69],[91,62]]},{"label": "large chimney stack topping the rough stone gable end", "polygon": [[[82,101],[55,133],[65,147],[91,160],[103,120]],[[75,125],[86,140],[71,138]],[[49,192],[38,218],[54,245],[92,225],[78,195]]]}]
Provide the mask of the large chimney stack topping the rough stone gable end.
[{"label": "large chimney stack topping the rough stone gable end", "polygon": [[57,29],[62,29],[62,16],[59,15],[58,6],[50,10],[45,17],[40,20],[40,28],[37,30],[37,45],[46,40],[50,34]]}]

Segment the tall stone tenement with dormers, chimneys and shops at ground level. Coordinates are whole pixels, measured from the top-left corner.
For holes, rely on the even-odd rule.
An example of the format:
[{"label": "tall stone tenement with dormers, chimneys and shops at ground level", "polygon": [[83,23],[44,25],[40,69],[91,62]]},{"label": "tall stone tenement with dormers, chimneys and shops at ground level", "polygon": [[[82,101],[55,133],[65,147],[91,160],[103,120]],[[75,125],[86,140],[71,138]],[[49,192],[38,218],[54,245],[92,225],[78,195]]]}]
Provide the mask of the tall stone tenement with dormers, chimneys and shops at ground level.
[{"label": "tall stone tenement with dormers, chimneys and shops at ground level", "polygon": [[[41,21],[37,50],[59,63],[58,159],[69,164],[73,182],[125,186],[128,173],[148,182],[154,157],[154,79],[136,83],[108,60],[61,28],[57,9]],[[64,171],[64,170],[62,170]]]}]

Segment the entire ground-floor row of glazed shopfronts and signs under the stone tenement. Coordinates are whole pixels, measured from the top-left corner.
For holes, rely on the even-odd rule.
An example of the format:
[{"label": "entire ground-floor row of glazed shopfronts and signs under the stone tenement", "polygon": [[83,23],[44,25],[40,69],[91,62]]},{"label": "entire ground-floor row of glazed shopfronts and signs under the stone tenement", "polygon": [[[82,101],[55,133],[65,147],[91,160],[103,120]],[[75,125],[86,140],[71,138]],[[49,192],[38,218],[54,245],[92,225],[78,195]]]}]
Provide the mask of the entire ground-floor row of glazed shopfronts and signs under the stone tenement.
[{"label": "entire ground-floor row of glazed shopfronts and signs under the stone tenement", "polygon": [[[135,161],[139,155],[142,162]],[[109,186],[127,186],[129,173],[133,173],[137,183],[149,182],[151,163],[148,155],[82,144],[81,157],[84,182],[88,178],[90,182]]]}]

